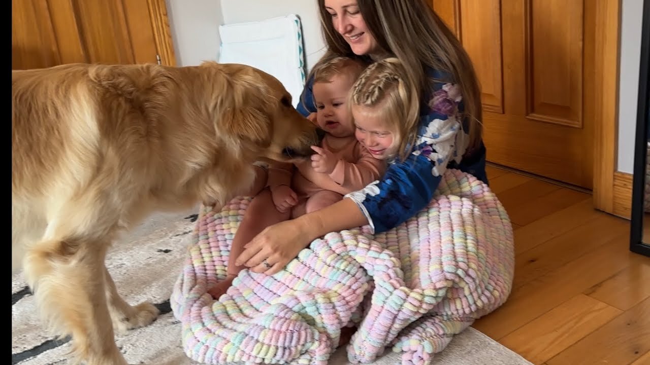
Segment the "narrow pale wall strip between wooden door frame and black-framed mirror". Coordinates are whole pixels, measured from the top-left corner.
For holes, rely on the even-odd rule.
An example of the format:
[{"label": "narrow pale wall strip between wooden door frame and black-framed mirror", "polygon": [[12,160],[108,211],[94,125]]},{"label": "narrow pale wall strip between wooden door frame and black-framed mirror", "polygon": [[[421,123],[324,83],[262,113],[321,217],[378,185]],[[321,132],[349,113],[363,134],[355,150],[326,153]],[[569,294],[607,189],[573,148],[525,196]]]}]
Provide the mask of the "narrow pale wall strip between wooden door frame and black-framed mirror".
[{"label": "narrow pale wall strip between wooden door frame and black-framed mirror", "polygon": [[621,6],[617,170],[632,173],[643,0],[623,0]]}]

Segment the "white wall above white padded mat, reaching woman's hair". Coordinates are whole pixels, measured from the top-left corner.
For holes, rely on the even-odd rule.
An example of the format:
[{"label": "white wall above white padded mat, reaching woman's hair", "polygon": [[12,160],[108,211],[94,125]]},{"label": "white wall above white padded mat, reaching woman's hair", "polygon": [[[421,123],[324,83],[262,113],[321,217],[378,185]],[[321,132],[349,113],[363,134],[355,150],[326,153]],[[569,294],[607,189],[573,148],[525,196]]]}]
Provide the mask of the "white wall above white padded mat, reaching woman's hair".
[{"label": "white wall above white padded mat, reaching woman's hair", "polygon": [[224,24],[296,14],[302,23],[307,72],[325,52],[316,0],[220,0],[220,2]]}]

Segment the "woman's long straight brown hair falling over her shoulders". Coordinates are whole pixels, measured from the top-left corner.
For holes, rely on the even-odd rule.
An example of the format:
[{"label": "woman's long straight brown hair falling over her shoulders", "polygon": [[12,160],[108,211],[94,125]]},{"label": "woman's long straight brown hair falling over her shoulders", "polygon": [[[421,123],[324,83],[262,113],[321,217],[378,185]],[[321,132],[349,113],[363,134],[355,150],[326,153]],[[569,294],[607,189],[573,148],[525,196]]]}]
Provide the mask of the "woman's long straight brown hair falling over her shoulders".
[{"label": "woman's long straight brown hair falling over her shoulders", "polygon": [[[426,69],[432,68],[448,73],[451,80],[459,84],[463,97],[463,115],[467,118],[469,145],[465,155],[479,147],[482,138],[482,106],[478,78],[474,66],[456,36],[435,14],[425,0],[357,0],[361,16],[377,44],[387,57],[397,57],[406,69],[407,77],[413,84],[420,85],[419,99],[432,90],[432,81]],[[320,24],[328,52],[332,54],[359,57],[354,55],[346,42],[334,29],[331,15],[325,8],[325,0],[318,0]],[[370,55],[361,56],[369,60]],[[310,75],[311,76],[311,75]],[[416,130],[411,131],[415,138]]]}]

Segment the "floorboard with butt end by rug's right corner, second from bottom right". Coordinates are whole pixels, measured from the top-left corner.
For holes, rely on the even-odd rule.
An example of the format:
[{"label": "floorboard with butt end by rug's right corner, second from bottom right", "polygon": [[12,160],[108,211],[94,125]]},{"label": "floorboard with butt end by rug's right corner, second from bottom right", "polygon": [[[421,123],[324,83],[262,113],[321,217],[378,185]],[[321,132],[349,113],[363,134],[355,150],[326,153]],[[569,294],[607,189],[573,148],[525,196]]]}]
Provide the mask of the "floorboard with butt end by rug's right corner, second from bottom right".
[{"label": "floorboard with butt end by rug's right corner, second from bottom right", "polygon": [[584,294],[578,294],[499,342],[526,360],[541,364],[622,312]]}]

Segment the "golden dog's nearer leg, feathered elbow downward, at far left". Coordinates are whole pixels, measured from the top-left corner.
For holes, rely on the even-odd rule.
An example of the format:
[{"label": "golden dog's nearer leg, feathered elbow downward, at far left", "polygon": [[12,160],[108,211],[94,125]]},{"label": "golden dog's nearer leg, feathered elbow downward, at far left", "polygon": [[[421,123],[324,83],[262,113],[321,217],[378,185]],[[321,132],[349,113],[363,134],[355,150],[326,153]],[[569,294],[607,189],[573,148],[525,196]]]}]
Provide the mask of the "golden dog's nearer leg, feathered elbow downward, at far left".
[{"label": "golden dog's nearer leg, feathered elbow downward, at far left", "polygon": [[25,277],[51,331],[72,337],[75,360],[125,365],[115,344],[104,278],[106,242],[45,240],[25,255]]}]

